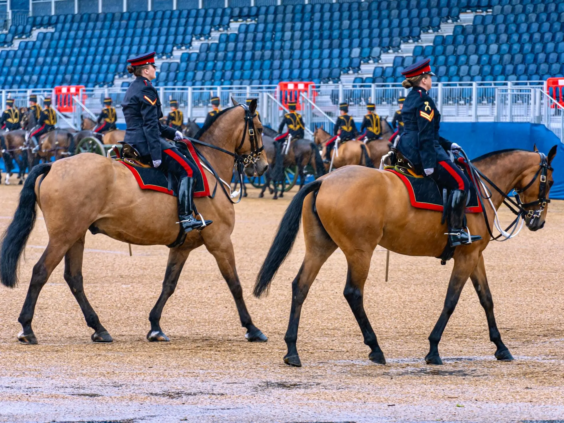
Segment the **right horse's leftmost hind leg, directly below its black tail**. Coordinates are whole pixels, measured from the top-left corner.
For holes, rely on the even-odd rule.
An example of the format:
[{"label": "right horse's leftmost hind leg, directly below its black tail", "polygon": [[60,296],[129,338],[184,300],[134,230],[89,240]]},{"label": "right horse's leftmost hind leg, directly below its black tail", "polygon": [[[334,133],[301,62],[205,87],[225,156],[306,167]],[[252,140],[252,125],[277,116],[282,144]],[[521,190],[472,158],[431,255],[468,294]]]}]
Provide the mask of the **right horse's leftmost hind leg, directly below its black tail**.
[{"label": "right horse's leftmost hind leg, directly below its black tail", "polygon": [[298,342],[299,316],[302,312],[303,302],[307,297],[311,284],[314,283],[315,276],[319,273],[319,269],[329,256],[333,254],[334,250],[337,249],[337,245],[332,240],[327,240],[327,235],[323,233],[312,233],[310,236],[314,239],[313,242],[316,245],[311,249],[306,246],[306,254],[303,257],[302,266],[292,282],[292,306],[290,307],[288,329],[284,336],[284,341],[288,347],[288,352],[284,356],[284,363],[294,367],[302,367],[296,343]]}]

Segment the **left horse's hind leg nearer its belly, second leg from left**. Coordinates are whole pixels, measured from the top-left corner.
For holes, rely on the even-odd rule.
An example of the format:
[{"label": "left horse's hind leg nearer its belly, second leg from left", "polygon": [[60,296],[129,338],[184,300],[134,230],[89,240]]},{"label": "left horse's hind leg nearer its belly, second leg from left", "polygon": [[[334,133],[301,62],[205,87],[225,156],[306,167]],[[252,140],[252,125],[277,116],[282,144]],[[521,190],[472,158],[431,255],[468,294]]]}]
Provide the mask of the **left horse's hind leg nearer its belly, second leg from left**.
[{"label": "left horse's hind leg nearer its belly, second leg from left", "polygon": [[112,342],[113,339],[105,330],[105,328],[100,324],[100,319],[98,315],[92,309],[92,306],[86,298],[83,288],[82,280],[82,257],[84,252],[84,237],[78,240],[65,254],[65,281],[69,285],[70,292],[72,292],[74,298],[78,302],[86,324],[94,329],[94,333],[90,337],[94,342]]}]

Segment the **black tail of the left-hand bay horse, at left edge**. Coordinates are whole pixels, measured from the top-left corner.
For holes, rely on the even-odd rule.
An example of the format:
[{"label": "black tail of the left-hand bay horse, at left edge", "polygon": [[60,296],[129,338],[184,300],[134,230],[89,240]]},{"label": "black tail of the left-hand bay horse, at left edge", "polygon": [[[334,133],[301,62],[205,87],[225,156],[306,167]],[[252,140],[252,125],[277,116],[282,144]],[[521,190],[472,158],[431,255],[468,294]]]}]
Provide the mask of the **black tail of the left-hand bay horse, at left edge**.
[{"label": "black tail of the left-hand bay horse, at left edge", "polygon": [[21,254],[28,242],[29,234],[37,217],[35,183],[39,176],[47,174],[51,164],[42,163],[29,172],[24,187],[20,192],[14,219],[2,235],[0,245],[0,281],[6,287],[14,288],[17,283],[17,270]]}]

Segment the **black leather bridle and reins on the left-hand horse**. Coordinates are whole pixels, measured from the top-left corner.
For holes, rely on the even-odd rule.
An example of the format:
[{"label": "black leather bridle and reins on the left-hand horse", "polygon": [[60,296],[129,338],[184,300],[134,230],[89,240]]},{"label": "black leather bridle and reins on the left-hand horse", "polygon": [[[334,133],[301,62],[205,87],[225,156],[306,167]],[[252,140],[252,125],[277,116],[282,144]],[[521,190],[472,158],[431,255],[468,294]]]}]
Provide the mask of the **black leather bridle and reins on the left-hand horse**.
[{"label": "black leather bridle and reins on the left-hand horse", "polygon": [[[250,165],[254,165],[261,158],[261,153],[263,149],[265,149],[265,146],[264,145],[260,147],[258,146],[257,131],[255,130],[254,122],[253,122],[253,118],[257,116],[257,112],[255,111],[254,113],[251,113],[249,106],[246,104],[237,104],[237,106],[243,107],[243,110],[245,111],[245,126],[243,128],[243,136],[241,137],[241,142],[239,143],[239,146],[235,148],[234,153],[224,148],[214,146],[213,144],[205,143],[198,139],[194,139],[194,138],[186,138],[186,139],[190,140],[192,143],[199,144],[200,146],[213,148],[217,151],[221,151],[222,153],[226,153],[230,156],[233,156],[234,166],[237,169],[237,174],[239,174],[239,183],[240,186],[243,187],[243,178],[244,178],[243,170]],[[245,144],[245,137],[247,133],[249,133],[250,154],[241,155],[239,154],[239,151],[241,150],[241,148],[243,148],[243,145]],[[211,170],[211,173],[213,173],[215,177],[215,188],[210,196],[211,198],[213,198],[215,197],[215,191],[217,190],[218,181],[221,180],[221,178],[219,178],[219,175],[217,174],[215,169],[211,166],[208,159],[205,158],[204,155],[202,155],[202,153],[196,148],[196,146],[193,147],[200,160],[204,162],[206,166],[208,166],[208,168]],[[242,188],[241,191],[239,192],[239,199],[237,201],[233,201],[231,200],[230,193],[227,192],[223,184],[219,184],[219,186],[223,190],[223,193],[226,195],[227,199],[232,202],[232,204],[237,204],[243,198]]]}]

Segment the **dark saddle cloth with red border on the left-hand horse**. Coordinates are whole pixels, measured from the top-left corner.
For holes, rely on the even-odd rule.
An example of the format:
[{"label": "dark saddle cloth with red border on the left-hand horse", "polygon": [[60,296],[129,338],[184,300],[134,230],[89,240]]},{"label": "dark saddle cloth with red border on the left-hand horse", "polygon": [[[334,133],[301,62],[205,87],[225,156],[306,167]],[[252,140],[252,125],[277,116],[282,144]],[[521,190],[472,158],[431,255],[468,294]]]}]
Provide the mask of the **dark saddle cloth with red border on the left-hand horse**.
[{"label": "dark saddle cloth with red border on the left-hand horse", "polygon": [[[208,179],[206,178],[204,169],[202,169],[200,160],[196,155],[194,146],[192,146],[192,143],[188,140],[183,140],[182,143],[183,144],[177,143],[177,147],[180,149],[180,152],[184,153],[184,156],[195,164],[198,169],[198,171],[192,175],[195,179],[194,197],[207,197],[210,195]],[[178,180],[173,175],[170,175],[172,179],[169,181],[169,175],[163,173],[161,170],[136,166],[131,164],[131,162],[124,161],[123,159],[118,159],[118,161],[120,161],[127,169],[131,170],[131,173],[133,173],[135,180],[142,190],[153,190],[178,196]]]}]

